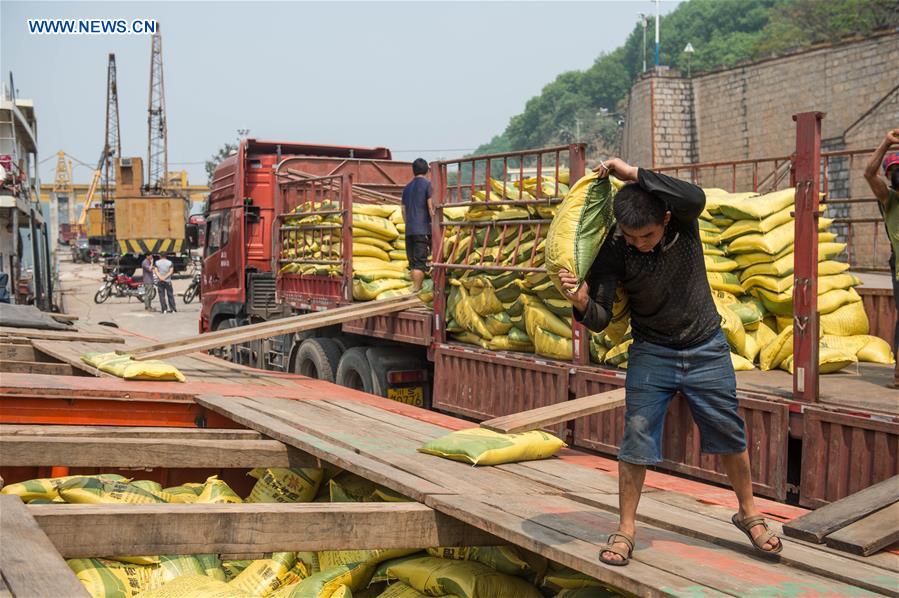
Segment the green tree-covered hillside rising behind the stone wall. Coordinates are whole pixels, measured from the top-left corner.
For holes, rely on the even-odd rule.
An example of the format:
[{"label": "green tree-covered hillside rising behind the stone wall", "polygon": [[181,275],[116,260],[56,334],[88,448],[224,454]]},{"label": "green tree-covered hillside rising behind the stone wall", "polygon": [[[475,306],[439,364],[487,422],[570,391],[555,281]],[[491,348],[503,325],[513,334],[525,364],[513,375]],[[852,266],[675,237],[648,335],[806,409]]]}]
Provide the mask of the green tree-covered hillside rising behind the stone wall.
[{"label": "green tree-covered hillside rising behind the stone wall", "polygon": [[[695,48],[692,72],[784,54],[820,42],[899,26],[895,0],[690,0],[661,20],[661,64],[687,71],[682,52]],[[647,62],[654,62],[650,19]],[[586,141],[588,153],[618,145],[624,100],[642,70],[643,28],[589,69],[569,71],[527,101],[505,131],[474,153],[487,154]],[[884,76],[887,76],[884,73]]]}]

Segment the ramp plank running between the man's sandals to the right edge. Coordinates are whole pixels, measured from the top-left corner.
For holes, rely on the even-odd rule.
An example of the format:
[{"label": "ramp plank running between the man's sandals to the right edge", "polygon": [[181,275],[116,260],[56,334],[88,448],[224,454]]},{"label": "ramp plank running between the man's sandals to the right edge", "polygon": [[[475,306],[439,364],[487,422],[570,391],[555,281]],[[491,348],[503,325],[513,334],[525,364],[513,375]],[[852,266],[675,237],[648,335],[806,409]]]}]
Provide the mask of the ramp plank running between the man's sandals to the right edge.
[{"label": "ramp plank running between the man's sandals to the right edge", "polygon": [[[705,540],[748,555],[757,556],[746,535],[730,521],[724,522],[684,508],[655,500],[654,493],[640,499],[637,520],[655,527],[676,532],[690,538]],[[573,500],[618,513],[618,497],[607,494],[569,494]],[[696,502],[696,501],[694,501]],[[639,530],[638,530],[639,536]],[[816,548],[784,542],[784,550],[778,557],[784,565],[795,567],[843,583],[864,587],[886,596],[899,596],[899,587],[888,581],[889,576],[878,567],[857,563]]]}]

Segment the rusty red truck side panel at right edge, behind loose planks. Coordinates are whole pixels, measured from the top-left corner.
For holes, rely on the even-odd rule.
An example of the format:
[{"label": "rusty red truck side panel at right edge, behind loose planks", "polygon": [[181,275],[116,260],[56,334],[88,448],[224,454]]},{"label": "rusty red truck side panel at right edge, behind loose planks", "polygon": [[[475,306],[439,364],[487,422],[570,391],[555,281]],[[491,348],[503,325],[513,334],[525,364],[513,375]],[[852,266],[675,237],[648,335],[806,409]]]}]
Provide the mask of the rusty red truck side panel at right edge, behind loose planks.
[{"label": "rusty red truck side panel at right edge, behind loose planks", "polygon": [[799,504],[817,508],[899,474],[899,422],[806,409]]}]

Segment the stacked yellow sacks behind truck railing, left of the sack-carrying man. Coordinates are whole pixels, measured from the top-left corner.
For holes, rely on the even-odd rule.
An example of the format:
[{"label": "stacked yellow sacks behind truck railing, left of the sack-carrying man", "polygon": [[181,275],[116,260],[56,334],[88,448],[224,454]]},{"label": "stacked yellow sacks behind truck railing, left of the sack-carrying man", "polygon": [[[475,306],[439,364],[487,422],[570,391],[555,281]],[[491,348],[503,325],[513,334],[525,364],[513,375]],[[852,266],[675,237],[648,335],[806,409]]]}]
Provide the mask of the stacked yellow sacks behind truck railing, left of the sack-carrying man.
[{"label": "stacked yellow sacks behind truck railing, left of the sack-carrying man", "polygon": [[[454,264],[539,268],[546,258],[545,223],[555,216],[558,202],[515,205],[505,201],[533,201],[537,186],[541,199],[562,199],[568,194],[568,172],[559,179],[542,176],[522,181],[490,179],[489,191],[475,191],[472,201],[483,206],[448,207],[447,220],[467,222],[518,221],[505,227],[447,227],[444,261]],[[571,304],[544,272],[450,270],[447,290],[447,327],[453,340],[495,351],[536,353],[569,360]]]}]

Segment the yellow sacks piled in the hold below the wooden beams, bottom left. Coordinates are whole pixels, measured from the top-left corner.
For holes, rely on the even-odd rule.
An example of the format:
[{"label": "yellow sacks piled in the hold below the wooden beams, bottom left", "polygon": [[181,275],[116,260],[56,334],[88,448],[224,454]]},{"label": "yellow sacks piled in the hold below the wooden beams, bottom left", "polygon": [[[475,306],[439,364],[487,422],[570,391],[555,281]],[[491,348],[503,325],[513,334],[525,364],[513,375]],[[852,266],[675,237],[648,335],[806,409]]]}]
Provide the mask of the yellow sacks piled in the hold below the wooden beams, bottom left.
[{"label": "yellow sacks piled in the hold below the wooden beams, bottom left", "polygon": [[[243,502],[408,501],[340,470],[254,469]],[[25,502],[239,503],[223,481],[161,488],[113,474],[30,480],[3,489]],[[179,497],[174,499],[173,497]],[[69,559],[93,598],[606,598],[598,580],[514,546],[275,552],[256,560],[219,554]]]}]

